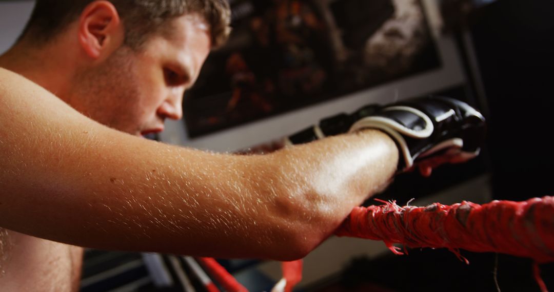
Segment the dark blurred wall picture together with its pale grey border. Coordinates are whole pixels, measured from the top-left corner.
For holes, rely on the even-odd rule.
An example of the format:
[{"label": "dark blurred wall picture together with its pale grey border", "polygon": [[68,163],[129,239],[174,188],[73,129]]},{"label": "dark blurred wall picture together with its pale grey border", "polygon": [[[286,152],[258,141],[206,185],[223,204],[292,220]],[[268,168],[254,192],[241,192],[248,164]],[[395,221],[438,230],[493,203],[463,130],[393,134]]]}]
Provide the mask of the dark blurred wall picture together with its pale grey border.
[{"label": "dark blurred wall picture together with its pale grey border", "polygon": [[425,0],[234,0],[233,32],[163,140],[236,150],[371,102],[463,82]]}]

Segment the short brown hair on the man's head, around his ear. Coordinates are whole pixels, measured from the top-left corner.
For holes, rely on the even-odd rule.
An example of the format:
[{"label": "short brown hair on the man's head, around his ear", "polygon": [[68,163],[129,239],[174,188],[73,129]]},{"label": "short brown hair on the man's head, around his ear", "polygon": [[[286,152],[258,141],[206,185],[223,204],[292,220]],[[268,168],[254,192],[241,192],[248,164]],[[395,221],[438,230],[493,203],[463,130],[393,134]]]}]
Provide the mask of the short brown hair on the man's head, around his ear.
[{"label": "short brown hair on the man's head, around his ear", "polygon": [[[167,32],[165,24],[186,14],[199,14],[209,25],[212,46],[229,35],[230,11],[227,0],[107,0],[125,26],[125,44],[138,49],[152,34]],[[79,19],[95,0],[37,0],[22,38],[45,43]]]}]

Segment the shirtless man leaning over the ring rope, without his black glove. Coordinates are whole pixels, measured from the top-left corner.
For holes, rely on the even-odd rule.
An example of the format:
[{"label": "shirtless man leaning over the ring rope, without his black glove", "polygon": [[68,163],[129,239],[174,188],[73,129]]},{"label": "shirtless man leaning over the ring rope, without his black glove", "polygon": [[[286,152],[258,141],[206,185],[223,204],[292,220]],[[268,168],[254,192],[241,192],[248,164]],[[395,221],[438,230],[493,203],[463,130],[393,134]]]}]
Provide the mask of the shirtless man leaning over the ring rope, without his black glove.
[{"label": "shirtless man leaning over the ring rope, without his black glove", "polygon": [[37,1],[0,56],[2,291],[78,290],[81,247],[301,258],[411,166],[384,128],[252,156],[140,138],[181,118],[228,23],[224,0]]}]

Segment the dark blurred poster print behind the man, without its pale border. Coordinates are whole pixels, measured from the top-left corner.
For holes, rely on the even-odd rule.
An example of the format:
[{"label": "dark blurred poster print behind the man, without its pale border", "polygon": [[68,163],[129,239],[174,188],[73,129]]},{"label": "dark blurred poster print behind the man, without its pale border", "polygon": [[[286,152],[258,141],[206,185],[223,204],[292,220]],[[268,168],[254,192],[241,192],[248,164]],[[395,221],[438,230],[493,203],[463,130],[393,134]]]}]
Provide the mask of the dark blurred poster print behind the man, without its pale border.
[{"label": "dark blurred poster print behind the man, without its pale border", "polygon": [[418,0],[230,0],[233,32],[184,95],[190,138],[440,67]]}]

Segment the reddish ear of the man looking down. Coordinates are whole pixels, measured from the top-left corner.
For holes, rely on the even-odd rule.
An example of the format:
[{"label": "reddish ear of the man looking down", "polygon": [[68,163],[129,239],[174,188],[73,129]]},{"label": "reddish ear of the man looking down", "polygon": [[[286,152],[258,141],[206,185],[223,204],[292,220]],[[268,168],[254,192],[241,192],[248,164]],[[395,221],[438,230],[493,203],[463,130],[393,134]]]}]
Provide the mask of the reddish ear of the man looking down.
[{"label": "reddish ear of the man looking down", "polygon": [[85,7],[79,17],[79,43],[90,58],[109,55],[123,38],[123,25],[113,4],[94,1]]}]

